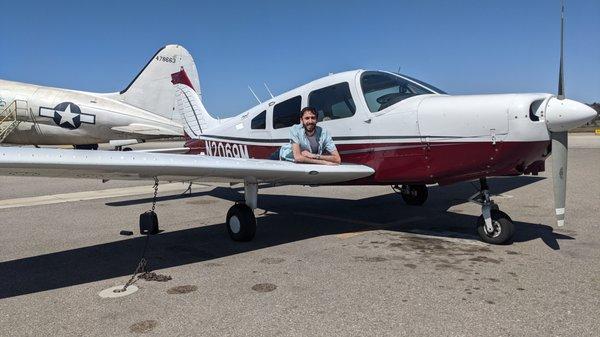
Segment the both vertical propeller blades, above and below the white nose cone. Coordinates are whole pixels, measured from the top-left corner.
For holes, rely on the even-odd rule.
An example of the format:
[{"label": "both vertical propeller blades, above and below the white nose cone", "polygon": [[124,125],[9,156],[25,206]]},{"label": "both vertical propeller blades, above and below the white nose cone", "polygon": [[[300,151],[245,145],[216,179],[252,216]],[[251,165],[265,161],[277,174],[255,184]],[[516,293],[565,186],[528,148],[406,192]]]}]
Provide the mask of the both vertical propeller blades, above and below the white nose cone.
[{"label": "both vertical propeller blades, above and below the white nose cone", "polygon": [[[565,26],[565,3],[561,1],[560,8],[560,66],[558,69],[558,93],[556,98],[565,99],[565,74],[563,70],[564,49],[564,26]],[[569,137],[567,131],[550,132],[552,139],[552,180],[554,181],[554,210],[556,212],[556,224],[559,227],[565,225],[565,201],[567,197],[567,157]]]}]

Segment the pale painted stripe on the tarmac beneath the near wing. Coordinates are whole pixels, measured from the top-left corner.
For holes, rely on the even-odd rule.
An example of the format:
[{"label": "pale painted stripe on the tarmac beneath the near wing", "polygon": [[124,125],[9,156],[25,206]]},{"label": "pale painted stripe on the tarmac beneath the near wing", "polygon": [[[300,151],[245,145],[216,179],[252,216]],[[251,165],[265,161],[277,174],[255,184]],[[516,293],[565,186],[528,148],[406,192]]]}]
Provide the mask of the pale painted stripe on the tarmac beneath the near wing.
[{"label": "pale painted stripe on the tarmac beneath the near wing", "polygon": [[[198,186],[198,185],[194,185]],[[201,185],[205,186],[205,185]],[[186,188],[185,184],[182,183],[170,183],[160,185],[158,192],[171,192],[171,191],[184,191]],[[27,206],[41,206],[41,205],[52,205],[60,204],[65,202],[74,201],[86,201],[96,199],[107,199],[117,197],[127,197],[132,195],[141,194],[152,194],[154,189],[152,186],[135,186],[135,187],[122,187],[122,188],[111,188],[106,190],[98,191],[84,191],[84,192],[73,192],[73,193],[61,193],[53,195],[41,195],[37,197],[27,198],[16,198],[8,200],[0,200],[0,209],[16,208],[16,207],[27,207]]]}]

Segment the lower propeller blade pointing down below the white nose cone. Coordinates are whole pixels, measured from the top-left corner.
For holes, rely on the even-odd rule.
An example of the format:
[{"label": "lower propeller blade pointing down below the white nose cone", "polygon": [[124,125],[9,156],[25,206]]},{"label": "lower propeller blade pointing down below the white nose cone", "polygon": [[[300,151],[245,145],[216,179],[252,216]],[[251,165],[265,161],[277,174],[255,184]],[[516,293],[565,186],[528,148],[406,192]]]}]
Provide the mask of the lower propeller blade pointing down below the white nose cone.
[{"label": "lower propeller blade pointing down below the white nose cone", "polygon": [[552,137],[552,180],[554,181],[554,209],[556,224],[565,225],[565,199],[567,197],[567,132],[551,132]]}]

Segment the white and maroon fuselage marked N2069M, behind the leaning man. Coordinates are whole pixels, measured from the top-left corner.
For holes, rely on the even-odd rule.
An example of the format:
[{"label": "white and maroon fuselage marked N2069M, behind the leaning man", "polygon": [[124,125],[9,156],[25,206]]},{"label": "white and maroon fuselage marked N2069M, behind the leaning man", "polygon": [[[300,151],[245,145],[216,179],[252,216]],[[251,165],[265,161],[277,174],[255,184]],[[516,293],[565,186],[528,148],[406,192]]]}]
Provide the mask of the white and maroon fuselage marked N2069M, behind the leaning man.
[{"label": "white and maroon fuselage marked N2069M, behind the leaning man", "polygon": [[448,184],[544,171],[550,138],[543,110],[552,95],[450,96],[426,84],[411,95],[386,88],[385,79],[377,83],[378,74],[386,73],[359,70],[313,81],[227,119],[186,146],[205,155],[270,158],[298,123],[286,110],[291,115],[316,106],[318,125],[332,134],[342,161],[375,170],[353,183]]}]

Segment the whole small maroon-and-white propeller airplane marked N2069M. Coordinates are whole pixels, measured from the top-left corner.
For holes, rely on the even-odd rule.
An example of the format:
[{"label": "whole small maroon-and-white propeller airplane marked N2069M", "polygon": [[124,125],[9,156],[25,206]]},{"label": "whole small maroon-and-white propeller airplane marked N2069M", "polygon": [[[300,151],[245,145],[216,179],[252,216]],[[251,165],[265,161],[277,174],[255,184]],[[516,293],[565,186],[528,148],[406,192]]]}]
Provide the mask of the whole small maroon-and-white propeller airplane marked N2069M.
[{"label": "whole small maroon-and-white propeller airplane marked N2069M", "polygon": [[[55,149],[0,149],[0,174],[98,179],[155,179],[244,184],[244,202],[227,212],[236,241],[254,237],[259,184],[391,185],[421,205],[427,185],[479,179],[480,238],[508,242],[512,219],[490,195],[487,177],[537,174],[552,154],[555,213],[564,225],[567,131],[596,117],[565,98],[561,57],[558,95],[448,95],[406,75],[355,70],[320,78],[223,120],[204,108],[186,70],[172,74],[189,154]],[[343,164],[268,159],[289,142],[304,106],[318,111]],[[195,155],[194,155],[195,154]]]}]

